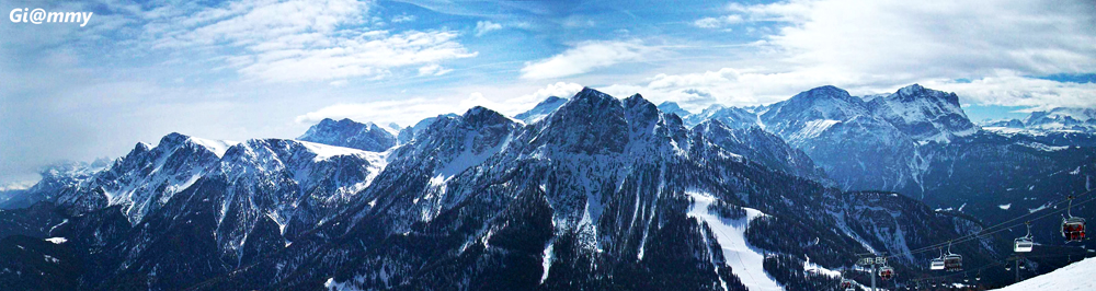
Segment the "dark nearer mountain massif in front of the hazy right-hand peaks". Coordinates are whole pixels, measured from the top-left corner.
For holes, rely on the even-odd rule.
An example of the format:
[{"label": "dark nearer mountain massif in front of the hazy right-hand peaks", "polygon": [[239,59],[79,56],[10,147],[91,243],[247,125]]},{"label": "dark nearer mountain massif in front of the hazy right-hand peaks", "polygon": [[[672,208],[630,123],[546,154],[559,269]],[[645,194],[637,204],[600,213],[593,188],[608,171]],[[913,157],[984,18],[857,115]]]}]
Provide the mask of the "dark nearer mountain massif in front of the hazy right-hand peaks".
[{"label": "dark nearer mountain massif in front of the hazy right-hand peaks", "polygon": [[[823,91],[808,96],[840,93]],[[892,266],[912,278],[935,254],[910,249],[981,229],[827,187],[779,135],[689,129],[640,95],[584,89],[530,124],[476,107],[407,130],[385,153],[169,135],[20,230],[68,240],[79,268],[58,282],[79,290],[763,290],[832,288],[794,275],[868,249],[902,254]],[[956,248],[984,264],[1007,246]]]}]

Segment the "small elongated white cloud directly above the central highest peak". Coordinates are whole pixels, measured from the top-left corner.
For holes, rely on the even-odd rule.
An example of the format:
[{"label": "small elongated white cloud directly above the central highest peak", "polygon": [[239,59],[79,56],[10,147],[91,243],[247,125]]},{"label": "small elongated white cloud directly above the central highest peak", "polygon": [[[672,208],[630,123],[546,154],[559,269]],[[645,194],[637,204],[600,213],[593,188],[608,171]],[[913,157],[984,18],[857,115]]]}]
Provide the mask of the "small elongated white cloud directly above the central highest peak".
[{"label": "small elongated white cloud directly above the central highest peak", "polygon": [[584,42],[575,47],[522,68],[522,78],[530,80],[552,79],[590,72],[627,61],[642,60],[654,48],[632,42]]}]

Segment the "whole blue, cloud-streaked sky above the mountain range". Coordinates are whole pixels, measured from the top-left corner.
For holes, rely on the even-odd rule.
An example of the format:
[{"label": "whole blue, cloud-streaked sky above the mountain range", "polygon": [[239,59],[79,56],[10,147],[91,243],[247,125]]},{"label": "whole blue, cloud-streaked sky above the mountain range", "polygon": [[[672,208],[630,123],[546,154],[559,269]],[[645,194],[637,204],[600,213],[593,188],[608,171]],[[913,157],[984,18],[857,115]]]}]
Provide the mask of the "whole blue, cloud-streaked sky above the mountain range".
[{"label": "whole blue, cloud-streaked sky above the mountain range", "polygon": [[[969,2],[969,3],[966,3]],[[172,131],[293,138],[322,118],[516,114],[592,86],[686,109],[833,84],[956,92],[972,119],[1096,107],[1092,1],[4,1],[0,182]]]}]

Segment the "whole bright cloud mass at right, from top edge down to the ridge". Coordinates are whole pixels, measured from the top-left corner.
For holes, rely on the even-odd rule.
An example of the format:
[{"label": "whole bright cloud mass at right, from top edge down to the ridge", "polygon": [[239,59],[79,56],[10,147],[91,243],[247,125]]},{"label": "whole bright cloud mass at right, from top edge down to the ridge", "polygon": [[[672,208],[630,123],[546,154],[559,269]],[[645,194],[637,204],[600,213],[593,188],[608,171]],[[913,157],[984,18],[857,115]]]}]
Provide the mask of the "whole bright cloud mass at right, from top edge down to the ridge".
[{"label": "whole bright cloud mass at right, from top edge down to the ridge", "polygon": [[975,104],[1096,105],[1093,84],[1031,77],[1096,71],[1096,7],[1091,3],[790,0],[731,3],[727,11],[694,25],[722,27],[729,18],[754,22],[747,25],[769,34],[723,69],[657,74],[604,90],[683,102],[688,109],[711,101],[767,104],[826,84],[871,94],[912,83],[954,91]]}]

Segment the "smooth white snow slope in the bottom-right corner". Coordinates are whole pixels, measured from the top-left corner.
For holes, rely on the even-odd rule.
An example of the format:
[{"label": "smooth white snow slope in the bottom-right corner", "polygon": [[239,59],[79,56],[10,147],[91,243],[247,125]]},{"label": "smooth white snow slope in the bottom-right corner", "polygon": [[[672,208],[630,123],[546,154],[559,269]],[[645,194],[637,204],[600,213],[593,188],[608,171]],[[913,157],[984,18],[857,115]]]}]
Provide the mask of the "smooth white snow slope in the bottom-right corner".
[{"label": "smooth white snow slope in the bottom-right corner", "polygon": [[1011,284],[997,291],[1092,291],[1096,290],[1096,258],[1070,264],[1061,269]]}]

